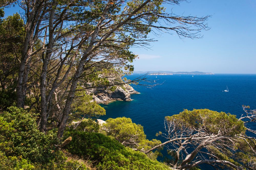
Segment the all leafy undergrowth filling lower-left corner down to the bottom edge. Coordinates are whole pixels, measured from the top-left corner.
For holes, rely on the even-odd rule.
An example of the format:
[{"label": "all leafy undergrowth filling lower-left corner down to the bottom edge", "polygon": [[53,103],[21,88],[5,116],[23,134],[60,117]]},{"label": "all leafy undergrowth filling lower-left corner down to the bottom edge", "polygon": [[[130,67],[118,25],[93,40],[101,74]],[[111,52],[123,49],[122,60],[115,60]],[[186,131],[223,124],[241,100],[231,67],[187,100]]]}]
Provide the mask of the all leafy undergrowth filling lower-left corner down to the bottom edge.
[{"label": "all leafy undergrowth filling lower-left corner down to the bottom edge", "polygon": [[17,107],[0,114],[0,169],[89,169],[56,146],[56,133],[37,129],[35,116]]}]

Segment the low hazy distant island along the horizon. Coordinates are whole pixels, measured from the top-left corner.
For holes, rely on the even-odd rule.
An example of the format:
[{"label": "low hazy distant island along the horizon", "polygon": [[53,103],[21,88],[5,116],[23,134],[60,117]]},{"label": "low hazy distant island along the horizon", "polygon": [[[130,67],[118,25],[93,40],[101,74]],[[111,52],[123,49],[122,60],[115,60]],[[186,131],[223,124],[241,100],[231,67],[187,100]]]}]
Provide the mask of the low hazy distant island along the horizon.
[{"label": "low hazy distant island along the horizon", "polygon": [[134,71],[133,73],[148,73],[149,75],[173,75],[173,74],[214,74],[210,72],[200,72],[200,71],[179,71],[179,72],[173,72],[173,71]]}]

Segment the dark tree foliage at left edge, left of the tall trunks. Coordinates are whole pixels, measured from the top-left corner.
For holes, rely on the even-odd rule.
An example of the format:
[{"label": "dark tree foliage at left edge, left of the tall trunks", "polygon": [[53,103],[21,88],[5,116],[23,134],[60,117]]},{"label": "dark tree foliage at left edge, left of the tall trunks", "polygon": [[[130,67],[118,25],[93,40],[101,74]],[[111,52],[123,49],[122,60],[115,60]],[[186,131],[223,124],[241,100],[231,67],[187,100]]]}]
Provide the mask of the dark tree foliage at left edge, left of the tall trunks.
[{"label": "dark tree foliage at left edge, left of the tall trunks", "polygon": [[9,89],[14,92],[23,37],[24,22],[19,14],[8,16],[0,23],[0,87],[2,90]]}]

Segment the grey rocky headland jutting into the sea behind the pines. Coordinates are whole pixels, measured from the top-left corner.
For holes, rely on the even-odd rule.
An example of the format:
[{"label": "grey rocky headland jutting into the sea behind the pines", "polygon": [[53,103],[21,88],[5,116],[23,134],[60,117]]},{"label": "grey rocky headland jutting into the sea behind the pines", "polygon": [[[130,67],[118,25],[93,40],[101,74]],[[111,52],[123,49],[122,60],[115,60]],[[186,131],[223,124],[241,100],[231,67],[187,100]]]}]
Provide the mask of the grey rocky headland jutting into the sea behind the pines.
[{"label": "grey rocky headland jutting into the sea behind the pines", "polygon": [[93,101],[97,103],[108,104],[110,102],[121,100],[131,101],[131,94],[140,94],[128,84],[114,86],[114,88],[98,87],[87,91],[88,95],[92,95]]}]

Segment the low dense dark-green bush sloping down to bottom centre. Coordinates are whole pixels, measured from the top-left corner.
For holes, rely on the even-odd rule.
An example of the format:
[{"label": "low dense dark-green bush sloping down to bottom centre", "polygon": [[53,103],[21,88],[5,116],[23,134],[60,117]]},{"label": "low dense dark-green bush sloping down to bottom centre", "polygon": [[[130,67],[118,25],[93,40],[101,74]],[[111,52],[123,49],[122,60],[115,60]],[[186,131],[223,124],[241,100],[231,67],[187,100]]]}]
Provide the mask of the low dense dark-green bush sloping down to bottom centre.
[{"label": "low dense dark-green bush sloping down to bottom centre", "polygon": [[115,139],[100,133],[71,130],[64,136],[72,136],[72,141],[66,146],[68,152],[96,161],[99,169],[168,169],[144,153],[126,148]]}]

